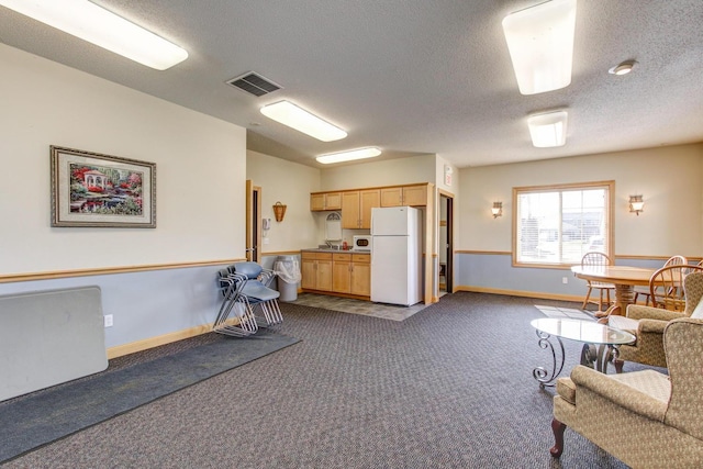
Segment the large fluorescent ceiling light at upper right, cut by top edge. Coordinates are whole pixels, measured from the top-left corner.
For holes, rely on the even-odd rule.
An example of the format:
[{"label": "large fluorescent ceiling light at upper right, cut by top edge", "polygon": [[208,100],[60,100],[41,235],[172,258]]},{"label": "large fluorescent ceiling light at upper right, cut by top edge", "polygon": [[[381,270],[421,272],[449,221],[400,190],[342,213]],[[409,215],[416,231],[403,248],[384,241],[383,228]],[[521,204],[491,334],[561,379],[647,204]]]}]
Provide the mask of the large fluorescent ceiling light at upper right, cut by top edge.
[{"label": "large fluorescent ceiling light at upper right, cut by top edge", "polygon": [[576,0],[551,0],[503,19],[521,93],[536,94],[569,86],[574,29]]}]

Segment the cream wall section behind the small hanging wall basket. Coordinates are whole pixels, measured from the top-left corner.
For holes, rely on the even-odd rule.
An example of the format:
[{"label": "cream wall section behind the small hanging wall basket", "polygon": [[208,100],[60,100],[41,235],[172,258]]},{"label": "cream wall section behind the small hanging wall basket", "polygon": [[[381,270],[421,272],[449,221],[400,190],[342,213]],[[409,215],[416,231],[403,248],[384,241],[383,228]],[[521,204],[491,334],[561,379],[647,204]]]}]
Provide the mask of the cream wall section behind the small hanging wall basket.
[{"label": "cream wall section behind the small hanging wall basket", "polygon": [[[264,255],[317,246],[320,227],[310,211],[310,192],[320,190],[317,168],[247,150],[246,178],[261,188],[261,217],[271,219]],[[278,201],[287,205],[280,223],[274,215]]]}]

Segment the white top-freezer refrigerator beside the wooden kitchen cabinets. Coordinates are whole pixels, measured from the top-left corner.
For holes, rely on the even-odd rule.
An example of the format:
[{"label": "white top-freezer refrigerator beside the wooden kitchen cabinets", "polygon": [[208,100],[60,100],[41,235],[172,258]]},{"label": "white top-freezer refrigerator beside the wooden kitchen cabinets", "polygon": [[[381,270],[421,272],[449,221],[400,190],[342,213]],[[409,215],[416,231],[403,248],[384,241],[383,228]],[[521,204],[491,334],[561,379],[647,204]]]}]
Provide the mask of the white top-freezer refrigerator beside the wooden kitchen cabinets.
[{"label": "white top-freezer refrigerator beside the wooden kitchen cabinets", "polygon": [[371,301],[410,306],[422,298],[422,212],[371,209]]}]

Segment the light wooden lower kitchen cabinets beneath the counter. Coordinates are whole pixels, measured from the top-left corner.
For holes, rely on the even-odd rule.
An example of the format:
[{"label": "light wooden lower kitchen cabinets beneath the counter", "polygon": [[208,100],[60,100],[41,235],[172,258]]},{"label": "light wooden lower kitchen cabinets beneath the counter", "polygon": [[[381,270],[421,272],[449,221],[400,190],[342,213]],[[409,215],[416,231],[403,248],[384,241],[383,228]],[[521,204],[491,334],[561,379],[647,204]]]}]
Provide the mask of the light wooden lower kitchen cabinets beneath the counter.
[{"label": "light wooden lower kitchen cabinets beneath the counter", "polygon": [[301,258],[303,289],[352,297],[371,295],[369,254],[303,252]]}]

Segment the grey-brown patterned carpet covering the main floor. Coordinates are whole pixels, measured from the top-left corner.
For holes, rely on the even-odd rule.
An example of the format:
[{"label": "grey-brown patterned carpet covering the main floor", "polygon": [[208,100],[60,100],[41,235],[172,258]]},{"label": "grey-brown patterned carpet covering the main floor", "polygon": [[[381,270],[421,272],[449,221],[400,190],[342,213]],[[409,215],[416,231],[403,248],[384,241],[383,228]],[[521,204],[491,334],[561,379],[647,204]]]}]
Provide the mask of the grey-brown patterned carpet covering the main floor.
[{"label": "grey-brown patterned carpet covering the main floor", "polygon": [[294,347],[3,468],[625,468],[571,431],[550,457],[535,303],[573,306],[462,292],[395,322],[282,303]]}]

